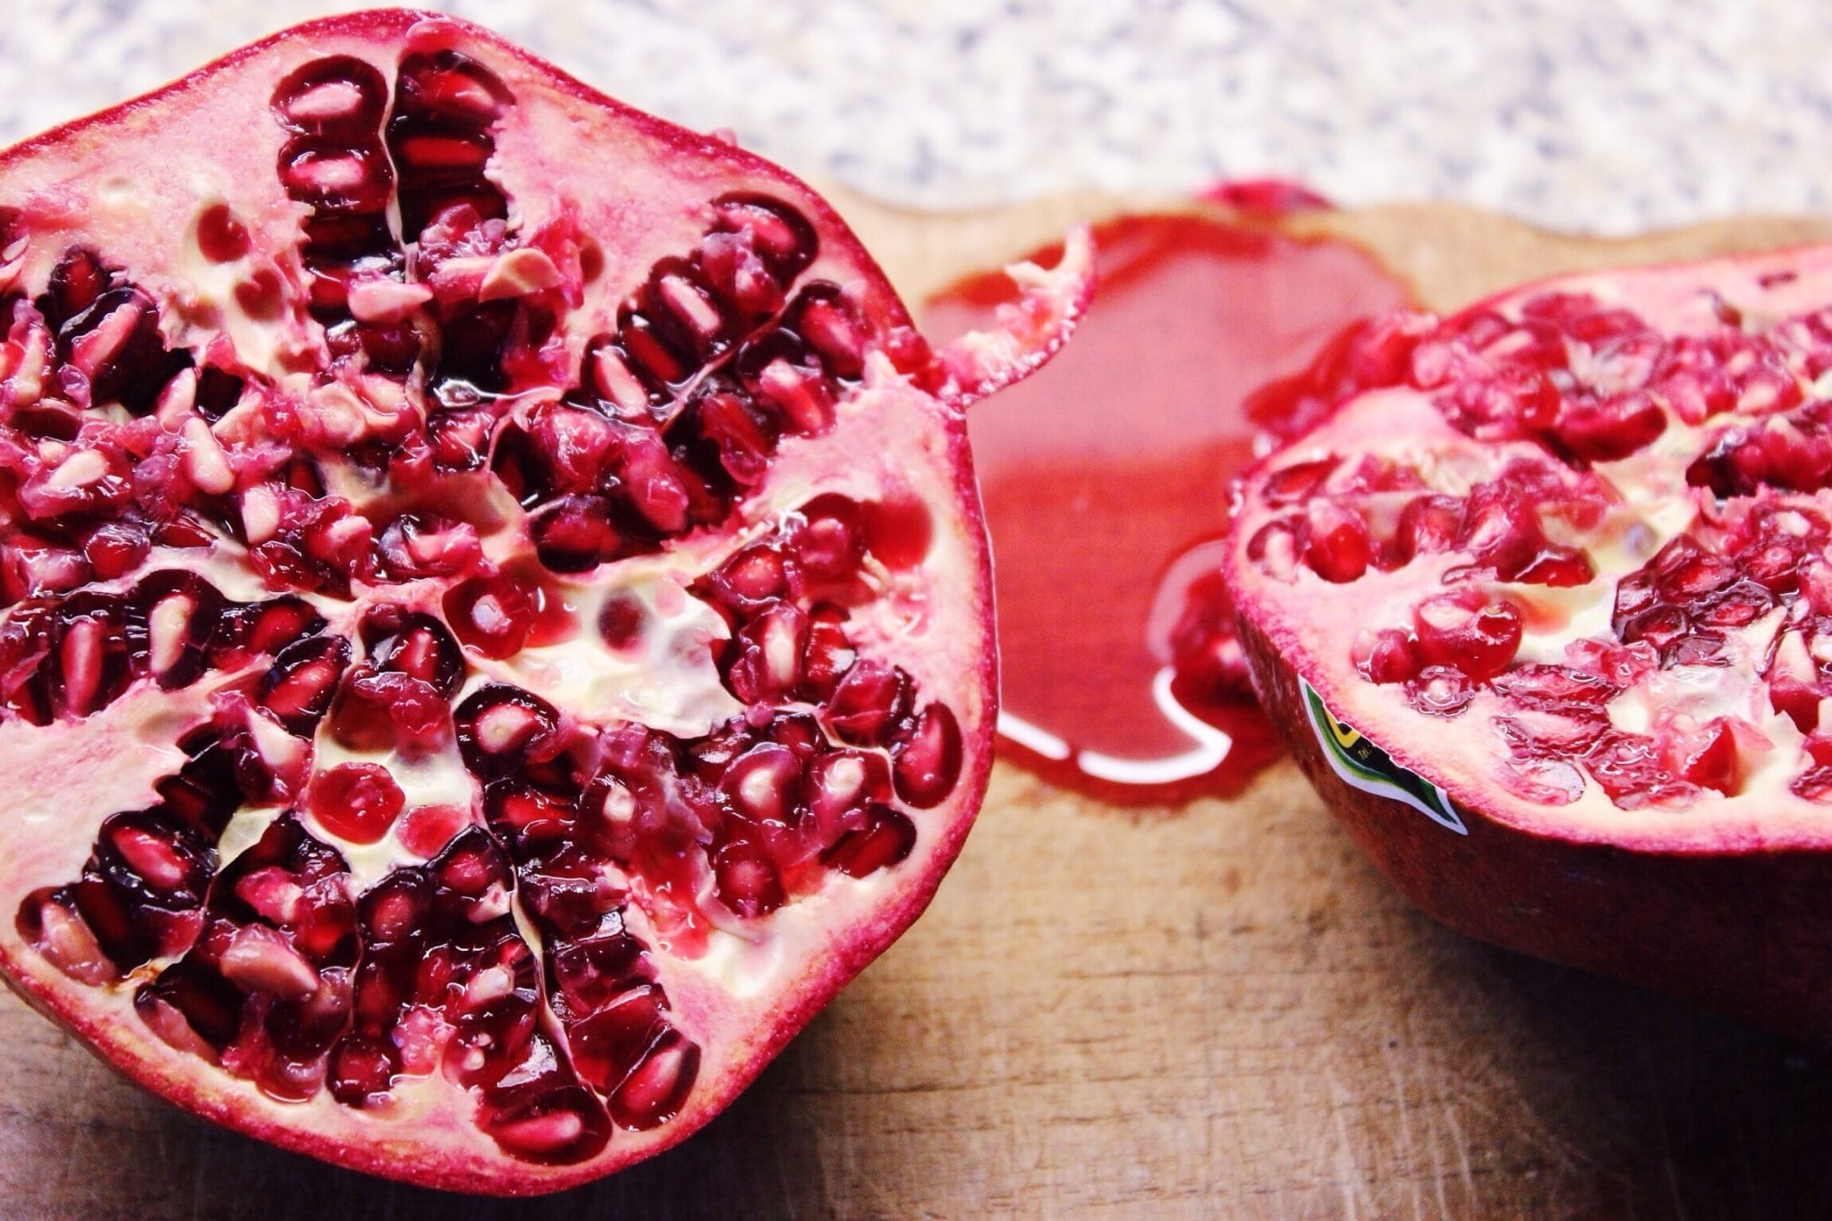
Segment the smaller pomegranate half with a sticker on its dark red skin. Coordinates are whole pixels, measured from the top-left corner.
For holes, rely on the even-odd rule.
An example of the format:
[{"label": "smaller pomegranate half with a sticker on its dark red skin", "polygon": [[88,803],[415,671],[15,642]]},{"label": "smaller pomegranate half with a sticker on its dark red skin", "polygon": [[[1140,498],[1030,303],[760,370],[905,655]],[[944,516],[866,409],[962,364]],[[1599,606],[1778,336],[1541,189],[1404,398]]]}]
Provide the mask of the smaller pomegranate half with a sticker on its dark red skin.
[{"label": "smaller pomegranate half with a sticker on its dark red skin", "polygon": [[1292,752],[1438,919],[1832,1034],[1832,247],[1376,330],[1222,562]]}]

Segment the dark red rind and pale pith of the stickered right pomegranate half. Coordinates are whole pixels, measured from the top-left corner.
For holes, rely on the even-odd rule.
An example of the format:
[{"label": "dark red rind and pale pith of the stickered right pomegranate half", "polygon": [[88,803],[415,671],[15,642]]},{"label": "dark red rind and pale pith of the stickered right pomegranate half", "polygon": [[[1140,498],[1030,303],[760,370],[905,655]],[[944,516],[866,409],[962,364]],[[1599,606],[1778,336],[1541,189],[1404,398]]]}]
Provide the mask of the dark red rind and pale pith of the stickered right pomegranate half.
[{"label": "dark red rind and pale pith of the stickered right pomegranate half", "polygon": [[[1724,302],[1761,330],[1832,300],[1832,247],[1555,276],[1478,302],[1449,322],[1478,313],[1517,317],[1522,302],[1546,293],[1621,306],[1669,337],[1722,326]],[[1665,448],[1629,459],[1640,463],[1634,480],[1610,461],[1594,469],[1618,487],[1627,483],[1623,502],[1654,516],[1660,505],[1671,509],[1696,491],[1685,489],[1687,461],[1733,423],[1748,417],[1715,416],[1696,432],[1669,423]],[[1301,566],[1293,580],[1277,580],[1255,562],[1255,535],[1279,516],[1264,500],[1277,470],[1317,456],[1381,452],[1383,443],[1433,447],[1445,465],[1467,461],[1484,470],[1506,454],[1537,448],[1460,434],[1444,423],[1431,394],[1379,384],[1350,395],[1317,428],[1242,476],[1222,573],[1255,690],[1323,802],[1412,902],[1464,934],[1773,1029],[1832,1036],[1832,978],[1821,967],[1832,954],[1832,928],[1817,912],[1817,895],[1832,882],[1832,818],[1825,805],[1790,791],[1788,774],[1799,760],[1790,756],[1744,778],[1735,794],[1700,787],[1691,800],[1669,805],[1625,809],[1588,776],[1568,804],[1530,800],[1491,780],[1506,758],[1486,732],[1493,730],[1491,694],[1478,692],[1464,721],[1442,719],[1409,708],[1401,685],[1374,683],[1356,670],[1358,633],[1398,622],[1440,589],[1442,573],[1467,562],[1467,553],[1453,549],[1400,571],[1370,569],[1347,584]],[[1810,500],[1828,507],[1825,491]],[[1689,522],[1674,511],[1647,546],[1658,547]],[[1605,566],[1596,584],[1607,595],[1621,575],[1623,567]],[[1535,597],[1521,584],[1491,588]],[[1607,613],[1603,624],[1607,632]],[[1552,644],[1561,641],[1550,633]],[[1533,654],[1532,661],[1555,657]],[[1334,719],[1447,794],[1460,829],[1370,791],[1379,785],[1348,783],[1312,723],[1306,685]],[[1799,732],[1790,738],[1786,727],[1766,725],[1777,749],[1801,751]]]}]

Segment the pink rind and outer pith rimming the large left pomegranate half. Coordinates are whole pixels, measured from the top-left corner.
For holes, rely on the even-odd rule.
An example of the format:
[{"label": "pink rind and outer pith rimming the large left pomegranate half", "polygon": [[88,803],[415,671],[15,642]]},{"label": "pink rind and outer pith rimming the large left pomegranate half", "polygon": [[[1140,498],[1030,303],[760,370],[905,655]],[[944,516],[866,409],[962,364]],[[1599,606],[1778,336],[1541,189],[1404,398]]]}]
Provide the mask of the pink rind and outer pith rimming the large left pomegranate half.
[{"label": "pink rind and outer pith rimming the large left pomegranate half", "polygon": [[[271,179],[282,139],[267,121],[267,99],[277,79],[302,62],[330,55],[352,55],[390,70],[409,46],[462,48],[513,88],[520,99],[515,113],[546,106],[568,115],[575,141],[570,148],[540,145],[539,134],[502,132],[504,143],[520,141],[524,152],[502,167],[511,196],[524,183],[542,189],[568,183],[584,198],[616,194],[614,185],[595,189],[603,167],[671,179],[671,189],[641,196],[645,207],[630,205],[617,212],[621,227],[616,232],[627,240],[619,253],[630,267],[654,262],[669,253],[671,242],[678,245],[682,234],[696,232],[696,218],[682,207],[685,198],[703,200],[735,189],[768,190],[815,225],[821,234],[817,267],[824,275],[870,295],[874,308],[892,324],[909,324],[901,302],[846,225],[790,174],[720,139],[630,110],[485,29],[432,13],[370,11],[282,31],[163,90],[0,154],[0,183],[38,201],[68,201],[71,238],[141,253],[141,262],[126,271],[165,302],[183,289],[183,278],[174,273],[176,258],[159,243],[178,238],[161,234],[158,227],[147,231],[136,218],[181,214],[196,205],[189,194],[194,183],[156,172],[156,167],[170,165],[172,134],[194,130],[209,141],[211,159],[202,168],[222,174],[224,183],[242,176],[247,181]],[[123,179],[137,183],[141,196],[137,211],[130,209],[132,216],[121,212],[114,222],[84,227],[81,203],[86,185],[81,174],[71,174],[71,167],[92,165],[115,167]],[[273,200],[271,212],[249,218],[258,249],[286,247],[286,234],[297,225],[297,212],[278,205],[277,190]],[[46,216],[46,231],[57,231],[55,212]],[[42,271],[27,265],[15,275]],[[1059,330],[1052,331],[1055,340],[1059,335]],[[705,1053],[698,1082],[678,1117],[643,1131],[619,1128],[601,1153],[579,1164],[518,1161],[467,1120],[463,1095],[456,1087],[447,1091],[449,1097],[429,1097],[431,1089],[409,1097],[387,1118],[339,1106],[322,1091],[306,1102],[277,1102],[253,1084],[203,1067],[196,1056],[154,1036],[134,1014],[130,989],[103,992],[53,968],[26,945],[11,921],[0,928],[0,974],[33,1007],[154,1093],[236,1131],[383,1177],[478,1194],[540,1194],[597,1179],[689,1137],[921,913],[960,851],[986,793],[997,716],[991,569],[960,403],[920,390],[881,353],[874,353],[863,383],[859,401],[870,406],[874,428],[861,425],[839,428],[823,441],[786,443],[771,469],[771,487],[782,498],[791,492],[804,496],[823,474],[839,467],[879,491],[889,483],[901,485],[932,514],[934,544],[923,562],[925,593],[929,613],[945,622],[938,633],[945,639],[914,650],[885,630],[870,643],[885,646],[887,655],[905,665],[918,688],[947,692],[962,730],[960,780],[945,802],[920,813],[921,835],[898,868],[823,891],[817,912],[786,908],[784,919],[771,926],[773,957],[768,968],[744,979],[742,987],[709,965],[685,965],[667,976],[671,1014]],[[883,428],[878,428],[879,423]],[[845,489],[845,481],[839,487]],[[762,518],[769,507],[769,496],[758,494],[746,513]],[[152,782],[176,767],[178,756],[141,743],[136,708],[139,705],[132,699],[110,708],[112,734],[71,730],[81,734],[81,751],[66,749],[68,741],[42,741],[44,754],[59,760],[59,767],[48,767],[44,774],[75,778],[82,758],[110,758],[114,749],[132,765],[92,778],[92,783],[106,780],[115,785],[114,805],[99,809],[141,796],[150,802]],[[152,716],[145,708],[139,712]],[[169,725],[163,729],[170,732]],[[66,813],[70,796],[79,794],[62,796]],[[51,842],[40,833],[42,816],[51,813],[44,804],[22,805],[26,809],[15,811],[9,829],[0,831],[0,859],[5,862],[0,870],[5,895],[15,904],[35,886],[49,884],[59,875],[73,877],[86,851],[86,838],[59,837]],[[416,1109],[420,1115],[412,1117]]]}]

